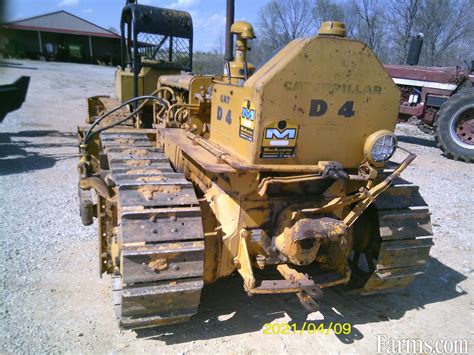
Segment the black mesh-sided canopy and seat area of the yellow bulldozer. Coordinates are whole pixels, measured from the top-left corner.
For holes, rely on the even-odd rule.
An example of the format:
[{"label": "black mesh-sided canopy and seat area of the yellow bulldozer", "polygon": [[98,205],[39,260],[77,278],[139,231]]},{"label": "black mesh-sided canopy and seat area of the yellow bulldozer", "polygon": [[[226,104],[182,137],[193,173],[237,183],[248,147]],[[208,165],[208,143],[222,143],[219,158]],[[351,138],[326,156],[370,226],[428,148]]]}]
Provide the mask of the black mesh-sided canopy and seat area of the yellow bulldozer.
[{"label": "black mesh-sided canopy and seat area of the yellow bulldozer", "polygon": [[156,90],[158,77],[192,70],[193,22],[184,11],[127,1],[120,20],[116,95],[123,102]]}]

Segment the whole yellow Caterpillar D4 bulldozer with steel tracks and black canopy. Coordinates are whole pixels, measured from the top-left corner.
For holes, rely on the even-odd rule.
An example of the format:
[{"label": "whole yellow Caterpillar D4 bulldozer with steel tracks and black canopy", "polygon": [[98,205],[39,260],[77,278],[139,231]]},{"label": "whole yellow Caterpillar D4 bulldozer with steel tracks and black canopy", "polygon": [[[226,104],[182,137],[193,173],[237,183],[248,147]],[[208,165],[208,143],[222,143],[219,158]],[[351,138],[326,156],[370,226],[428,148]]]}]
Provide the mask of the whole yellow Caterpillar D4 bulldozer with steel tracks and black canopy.
[{"label": "whole yellow Caterpillar D4 bulldozer with steel tracks and black canopy", "polygon": [[116,78],[133,94],[91,98],[79,128],[80,212],[97,218],[123,328],[188,320],[234,272],[249,295],[294,293],[308,311],[327,287],[400,289],[433,244],[400,178],[415,156],[390,161],[400,92],[374,53],[325,22],[256,69],[253,28],[227,11],[224,74],[202,76],[183,72],[189,14],[127,4]]}]

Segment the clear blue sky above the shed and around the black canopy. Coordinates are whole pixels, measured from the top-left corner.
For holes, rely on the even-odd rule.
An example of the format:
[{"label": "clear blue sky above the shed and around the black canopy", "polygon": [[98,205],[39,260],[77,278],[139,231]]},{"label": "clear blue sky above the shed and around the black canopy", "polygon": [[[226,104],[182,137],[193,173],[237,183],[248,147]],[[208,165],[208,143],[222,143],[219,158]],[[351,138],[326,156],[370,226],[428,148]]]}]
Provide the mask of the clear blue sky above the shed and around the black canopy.
[{"label": "clear blue sky above the shed and around the black canopy", "polygon": [[[98,26],[119,29],[120,14],[125,2],[125,0],[7,0],[7,21],[65,10]],[[268,0],[235,0],[235,19],[256,25],[258,10],[267,2]],[[194,24],[194,49],[210,51],[219,48],[219,39],[223,39],[225,30],[225,0],[138,0],[138,3],[190,12]]]}]

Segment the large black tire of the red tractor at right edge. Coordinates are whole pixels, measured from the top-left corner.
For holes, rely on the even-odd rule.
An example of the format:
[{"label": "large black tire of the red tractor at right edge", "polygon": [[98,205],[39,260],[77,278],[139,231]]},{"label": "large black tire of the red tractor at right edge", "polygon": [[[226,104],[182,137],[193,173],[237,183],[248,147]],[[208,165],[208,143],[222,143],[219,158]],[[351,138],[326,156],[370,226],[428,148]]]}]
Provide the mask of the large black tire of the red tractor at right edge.
[{"label": "large black tire of the red tractor at right edge", "polygon": [[434,124],[434,137],[439,148],[454,160],[474,162],[474,142],[463,142],[456,133],[460,119],[474,119],[474,89],[464,89],[441,106]]}]

